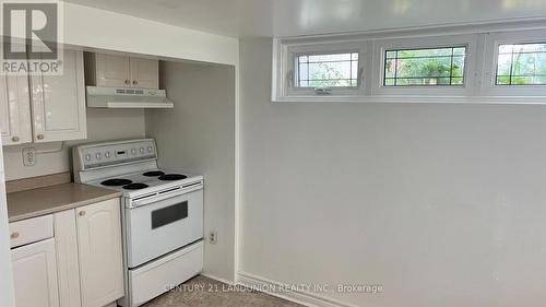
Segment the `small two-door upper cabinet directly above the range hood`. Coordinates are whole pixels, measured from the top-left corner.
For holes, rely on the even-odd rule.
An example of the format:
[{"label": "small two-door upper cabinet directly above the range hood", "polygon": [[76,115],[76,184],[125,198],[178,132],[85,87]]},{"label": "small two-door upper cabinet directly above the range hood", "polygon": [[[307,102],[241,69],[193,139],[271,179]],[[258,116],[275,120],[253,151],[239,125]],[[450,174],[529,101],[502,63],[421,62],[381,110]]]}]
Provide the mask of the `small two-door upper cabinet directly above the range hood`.
[{"label": "small two-door upper cabinet directly above the range hood", "polygon": [[85,52],[88,86],[159,88],[159,61]]}]

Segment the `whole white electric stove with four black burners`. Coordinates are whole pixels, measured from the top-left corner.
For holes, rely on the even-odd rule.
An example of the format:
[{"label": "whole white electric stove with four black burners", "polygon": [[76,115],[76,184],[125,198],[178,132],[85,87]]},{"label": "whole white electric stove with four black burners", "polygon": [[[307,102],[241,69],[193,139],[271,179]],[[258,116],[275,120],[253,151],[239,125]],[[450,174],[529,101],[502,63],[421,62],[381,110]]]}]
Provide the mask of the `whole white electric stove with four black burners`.
[{"label": "whole white electric stove with four black burners", "polygon": [[203,269],[203,176],[161,169],[153,139],[74,147],[76,182],[122,192],[126,296],[141,306]]}]

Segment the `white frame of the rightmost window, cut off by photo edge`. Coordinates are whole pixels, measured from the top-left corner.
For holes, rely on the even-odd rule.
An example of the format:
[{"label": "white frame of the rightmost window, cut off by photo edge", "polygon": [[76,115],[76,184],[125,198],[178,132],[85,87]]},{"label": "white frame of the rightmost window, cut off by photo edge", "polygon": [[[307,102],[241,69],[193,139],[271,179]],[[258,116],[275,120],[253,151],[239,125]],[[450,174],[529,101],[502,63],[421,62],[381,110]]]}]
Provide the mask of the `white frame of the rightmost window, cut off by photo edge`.
[{"label": "white frame of the rightmost window, cut off by photo edge", "polygon": [[496,83],[499,46],[533,43],[546,44],[546,32],[544,29],[533,29],[486,34],[486,60],[484,61],[485,72],[480,94],[485,96],[546,96],[546,84],[507,85]]}]

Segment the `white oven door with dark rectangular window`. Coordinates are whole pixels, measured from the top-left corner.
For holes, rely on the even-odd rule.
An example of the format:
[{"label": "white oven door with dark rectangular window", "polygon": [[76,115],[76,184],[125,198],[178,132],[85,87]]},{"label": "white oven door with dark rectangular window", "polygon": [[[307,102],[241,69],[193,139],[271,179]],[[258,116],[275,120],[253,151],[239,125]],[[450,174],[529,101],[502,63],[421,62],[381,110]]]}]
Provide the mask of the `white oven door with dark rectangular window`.
[{"label": "white oven door with dark rectangular window", "polygon": [[203,190],[126,209],[130,269],[203,237]]}]

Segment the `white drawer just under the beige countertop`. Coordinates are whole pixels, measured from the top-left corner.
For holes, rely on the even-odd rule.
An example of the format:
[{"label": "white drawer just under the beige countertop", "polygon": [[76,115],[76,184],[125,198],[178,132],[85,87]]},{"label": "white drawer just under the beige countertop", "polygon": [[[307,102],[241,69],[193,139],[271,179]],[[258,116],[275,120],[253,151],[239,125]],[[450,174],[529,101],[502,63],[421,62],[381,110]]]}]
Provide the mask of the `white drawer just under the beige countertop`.
[{"label": "white drawer just under the beige countertop", "polygon": [[10,223],[11,248],[54,237],[54,216],[46,215]]}]

